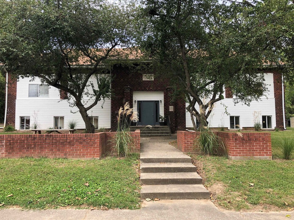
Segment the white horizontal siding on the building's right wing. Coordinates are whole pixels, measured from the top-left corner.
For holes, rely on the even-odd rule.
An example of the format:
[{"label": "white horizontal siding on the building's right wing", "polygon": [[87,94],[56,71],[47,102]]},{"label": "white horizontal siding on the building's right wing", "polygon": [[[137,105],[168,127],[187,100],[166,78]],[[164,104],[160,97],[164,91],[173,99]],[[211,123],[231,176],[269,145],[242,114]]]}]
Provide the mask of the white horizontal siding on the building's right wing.
[{"label": "white horizontal siding on the building's right wing", "polygon": [[[261,101],[252,101],[250,106],[242,103],[235,105],[233,99],[230,98],[224,98],[222,101],[215,103],[213,111],[208,118],[209,127],[226,127],[230,129],[230,116],[240,116],[240,129],[243,127],[254,127],[254,112],[259,113],[260,122],[262,122],[262,116],[272,116],[272,127],[276,127],[276,108],[272,73],[265,74],[265,83],[268,85],[267,87],[269,90],[266,94],[267,98],[261,97]],[[187,106],[188,104],[186,103],[186,107]],[[227,112],[230,115],[225,113],[224,106],[227,106]],[[193,127],[189,112],[186,112],[186,127]]]}]

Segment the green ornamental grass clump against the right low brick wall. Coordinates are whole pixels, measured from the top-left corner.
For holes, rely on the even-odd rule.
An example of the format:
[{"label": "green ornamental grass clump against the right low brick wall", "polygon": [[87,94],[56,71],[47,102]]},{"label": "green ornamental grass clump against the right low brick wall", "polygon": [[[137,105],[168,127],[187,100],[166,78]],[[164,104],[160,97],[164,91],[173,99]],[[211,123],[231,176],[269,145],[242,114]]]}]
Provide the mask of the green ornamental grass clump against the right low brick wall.
[{"label": "green ornamental grass clump against the right low brick wall", "polygon": [[204,129],[200,131],[200,136],[196,139],[199,150],[205,155],[226,155],[227,151],[220,137],[209,128],[204,127]]}]

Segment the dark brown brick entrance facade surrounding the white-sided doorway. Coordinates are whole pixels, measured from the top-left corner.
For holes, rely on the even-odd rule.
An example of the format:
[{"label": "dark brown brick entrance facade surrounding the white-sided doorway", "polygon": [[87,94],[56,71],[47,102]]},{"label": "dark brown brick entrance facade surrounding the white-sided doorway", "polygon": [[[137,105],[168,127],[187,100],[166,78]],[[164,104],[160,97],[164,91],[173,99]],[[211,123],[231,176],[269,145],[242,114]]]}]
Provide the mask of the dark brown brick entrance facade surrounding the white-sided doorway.
[{"label": "dark brown brick entrance facade surrounding the white-sided doorway", "polygon": [[[144,80],[142,73],[131,71],[128,67],[114,66],[111,71],[114,77],[111,87],[114,90],[114,97],[111,97],[111,129],[117,127],[117,112],[127,101],[133,108],[134,91],[162,91],[164,92],[164,115],[170,117],[171,132],[186,128],[186,109],[183,98],[171,101],[172,89],[167,79],[154,75],[154,80]],[[174,106],[174,111],[169,111],[169,106]]]}]

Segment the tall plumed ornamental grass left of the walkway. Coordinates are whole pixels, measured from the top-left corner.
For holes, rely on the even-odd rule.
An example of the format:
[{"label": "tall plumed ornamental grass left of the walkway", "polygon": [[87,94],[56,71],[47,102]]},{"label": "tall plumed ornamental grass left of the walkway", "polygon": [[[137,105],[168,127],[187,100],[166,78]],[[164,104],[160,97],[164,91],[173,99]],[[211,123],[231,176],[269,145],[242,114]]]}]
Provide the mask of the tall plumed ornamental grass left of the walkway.
[{"label": "tall plumed ornamental grass left of the walkway", "polygon": [[138,121],[138,113],[130,108],[128,102],[124,108],[120,107],[117,116],[117,131],[115,133],[114,142],[115,150],[119,156],[129,156],[131,149],[134,148],[133,138],[130,134],[131,122]]}]

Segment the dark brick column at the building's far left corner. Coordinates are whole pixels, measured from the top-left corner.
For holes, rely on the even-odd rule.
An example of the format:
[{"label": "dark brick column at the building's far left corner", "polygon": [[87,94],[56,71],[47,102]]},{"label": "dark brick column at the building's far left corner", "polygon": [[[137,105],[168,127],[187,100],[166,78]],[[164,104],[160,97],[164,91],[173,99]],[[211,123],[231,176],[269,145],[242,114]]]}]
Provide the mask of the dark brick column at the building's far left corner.
[{"label": "dark brick column at the building's far left corner", "polygon": [[8,90],[7,90],[8,94],[7,94],[6,124],[7,125],[13,125],[13,126],[15,124],[16,86],[17,86],[17,79],[13,78],[11,74],[8,74]]}]

